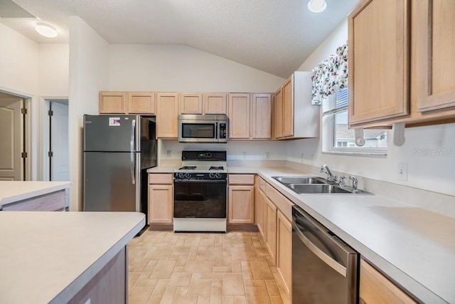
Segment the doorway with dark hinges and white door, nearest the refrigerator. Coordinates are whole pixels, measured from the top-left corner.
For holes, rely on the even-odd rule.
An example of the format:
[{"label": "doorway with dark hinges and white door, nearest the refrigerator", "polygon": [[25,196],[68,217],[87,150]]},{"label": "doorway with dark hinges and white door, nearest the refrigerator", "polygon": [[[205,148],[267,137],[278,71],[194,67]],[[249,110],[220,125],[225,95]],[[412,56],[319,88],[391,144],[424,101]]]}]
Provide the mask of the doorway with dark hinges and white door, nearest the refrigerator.
[{"label": "doorway with dark hinges and white door, nearest the refrigerator", "polygon": [[44,99],[43,179],[68,182],[68,98]]}]

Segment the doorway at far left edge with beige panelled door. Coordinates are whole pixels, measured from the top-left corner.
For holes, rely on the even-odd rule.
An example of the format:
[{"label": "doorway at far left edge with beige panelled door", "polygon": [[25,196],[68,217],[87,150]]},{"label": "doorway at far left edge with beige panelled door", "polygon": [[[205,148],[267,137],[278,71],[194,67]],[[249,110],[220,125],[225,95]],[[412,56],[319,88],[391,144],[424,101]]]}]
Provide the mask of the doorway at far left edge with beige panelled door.
[{"label": "doorway at far left edge with beige panelled door", "polygon": [[28,177],[27,98],[0,91],[0,180]]}]

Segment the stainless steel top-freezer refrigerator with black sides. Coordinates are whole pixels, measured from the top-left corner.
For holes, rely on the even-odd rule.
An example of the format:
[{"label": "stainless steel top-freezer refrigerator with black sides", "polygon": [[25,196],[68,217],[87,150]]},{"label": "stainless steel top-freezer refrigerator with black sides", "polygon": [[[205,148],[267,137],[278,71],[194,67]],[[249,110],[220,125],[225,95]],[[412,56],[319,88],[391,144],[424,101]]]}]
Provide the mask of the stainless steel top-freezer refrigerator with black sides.
[{"label": "stainless steel top-freezer refrigerator with black sides", "polygon": [[154,117],[84,115],[84,211],[147,214],[155,130]]}]

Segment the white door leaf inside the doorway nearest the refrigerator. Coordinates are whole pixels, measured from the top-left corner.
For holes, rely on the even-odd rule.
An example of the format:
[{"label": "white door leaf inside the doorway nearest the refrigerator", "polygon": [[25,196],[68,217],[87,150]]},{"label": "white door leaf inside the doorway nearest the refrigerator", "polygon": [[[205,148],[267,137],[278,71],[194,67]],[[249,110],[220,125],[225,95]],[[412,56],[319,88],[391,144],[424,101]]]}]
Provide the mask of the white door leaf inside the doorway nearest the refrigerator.
[{"label": "white door leaf inside the doorway nearest the refrigerator", "polygon": [[53,157],[50,168],[52,170],[50,180],[69,181],[69,157],[68,157],[68,105],[52,102],[52,125],[50,127],[50,147]]}]

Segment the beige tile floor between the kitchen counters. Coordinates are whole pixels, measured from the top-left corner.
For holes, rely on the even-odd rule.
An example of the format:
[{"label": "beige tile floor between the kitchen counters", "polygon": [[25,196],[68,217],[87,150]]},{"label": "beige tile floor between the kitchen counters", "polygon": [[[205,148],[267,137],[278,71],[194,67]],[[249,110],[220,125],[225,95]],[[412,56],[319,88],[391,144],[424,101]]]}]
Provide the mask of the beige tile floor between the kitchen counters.
[{"label": "beige tile floor between the kitchen counters", "polygon": [[290,303],[258,232],[146,231],[128,248],[129,304]]}]

